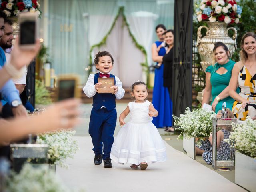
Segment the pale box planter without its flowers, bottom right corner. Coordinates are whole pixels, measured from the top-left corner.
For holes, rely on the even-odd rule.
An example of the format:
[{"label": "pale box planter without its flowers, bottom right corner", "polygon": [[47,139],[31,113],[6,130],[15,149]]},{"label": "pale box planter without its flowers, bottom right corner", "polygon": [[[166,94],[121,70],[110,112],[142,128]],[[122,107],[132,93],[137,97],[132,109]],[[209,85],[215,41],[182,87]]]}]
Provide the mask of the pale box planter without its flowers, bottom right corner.
[{"label": "pale box planter without its flowers, bottom right corner", "polygon": [[256,159],[236,151],[235,183],[251,192],[256,192]]}]

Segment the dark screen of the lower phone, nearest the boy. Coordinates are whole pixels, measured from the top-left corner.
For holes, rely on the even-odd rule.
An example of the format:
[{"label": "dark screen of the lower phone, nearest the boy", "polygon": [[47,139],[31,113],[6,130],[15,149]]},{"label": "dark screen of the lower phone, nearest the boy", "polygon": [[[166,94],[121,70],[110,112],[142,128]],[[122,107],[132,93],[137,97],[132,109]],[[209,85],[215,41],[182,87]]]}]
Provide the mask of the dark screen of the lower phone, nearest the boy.
[{"label": "dark screen of the lower phone, nearest the boy", "polygon": [[58,100],[73,98],[75,96],[76,81],[60,80],[59,81]]}]

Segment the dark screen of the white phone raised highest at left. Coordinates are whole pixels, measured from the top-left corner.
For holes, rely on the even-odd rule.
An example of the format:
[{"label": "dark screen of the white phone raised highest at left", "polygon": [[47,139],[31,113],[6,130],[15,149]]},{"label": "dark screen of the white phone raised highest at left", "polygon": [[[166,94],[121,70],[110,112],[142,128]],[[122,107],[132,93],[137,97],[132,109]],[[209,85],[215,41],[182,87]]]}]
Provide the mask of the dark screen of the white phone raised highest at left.
[{"label": "dark screen of the white phone raised highest at left", "polygon": [[20,24],[20,44],[35,44],[36,22],[24,21]]}]

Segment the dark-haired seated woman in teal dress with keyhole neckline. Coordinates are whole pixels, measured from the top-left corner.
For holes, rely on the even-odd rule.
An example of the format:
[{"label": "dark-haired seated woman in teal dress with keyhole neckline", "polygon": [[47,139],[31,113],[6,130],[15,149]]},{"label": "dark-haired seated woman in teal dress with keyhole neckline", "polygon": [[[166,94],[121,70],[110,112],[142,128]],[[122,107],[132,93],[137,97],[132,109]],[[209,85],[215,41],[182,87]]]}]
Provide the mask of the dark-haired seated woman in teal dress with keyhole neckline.
[{"label": "dark-haired seated woman in teal dress with keyhole neckline", "polygon": [[204,103],[209,103],[212,95],[212,110],[217,113],[222,109],[223,102],[226,102],[227,108],[232,109],[234,99],[228,94],[228,84],[235,62],[230,60],[228,47],[222,42],[214,44],[213,58],[214,64],[206,68],[206,86],[202,106]]}]

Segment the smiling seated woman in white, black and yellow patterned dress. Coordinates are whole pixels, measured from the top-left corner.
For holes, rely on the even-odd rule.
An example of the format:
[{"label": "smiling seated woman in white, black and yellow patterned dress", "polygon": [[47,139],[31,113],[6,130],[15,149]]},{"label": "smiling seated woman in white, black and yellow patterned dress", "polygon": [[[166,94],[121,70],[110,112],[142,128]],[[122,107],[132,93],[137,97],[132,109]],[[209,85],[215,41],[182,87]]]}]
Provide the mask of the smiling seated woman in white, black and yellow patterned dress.
[{"label": "smiling seated woman in white, black and yellow patterned dress", "polygon": [[[241,60],[234,65],[230,79],[229,94],[235,102],[234,116],[245,120],[247,116],[256,119],[256,34],[247,32],[241,40]],[[236,93],[239,87],[240,93]]]}]

